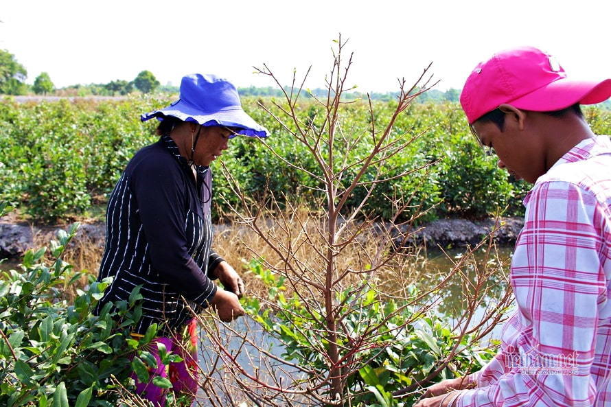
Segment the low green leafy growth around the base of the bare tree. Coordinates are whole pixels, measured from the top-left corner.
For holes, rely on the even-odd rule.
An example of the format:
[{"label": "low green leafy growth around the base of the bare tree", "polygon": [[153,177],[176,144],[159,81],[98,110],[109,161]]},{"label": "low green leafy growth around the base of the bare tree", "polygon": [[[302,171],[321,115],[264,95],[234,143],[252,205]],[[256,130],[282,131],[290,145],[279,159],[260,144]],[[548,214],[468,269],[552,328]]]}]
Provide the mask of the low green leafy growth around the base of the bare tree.
[{"label": "low green leafy growth around the base of the bare tree", "polygon": [[[286,290],[284,277],[278,277],[264,269],[260,263],[251,263],[253,272],[268,287],[268,298],[277,305],[279,312],[273,313],[265,301],[251,298],[244,301],[246,312],[264,327],[268,334],[278,338],[284,346],[283,357],[297,362],[301,367],[310,369],[314,375],[328,373],[323,352],[316,347],[325,347],[325,340],[313,321],[323,318],[324,308],[319,313],[293,295],[284,296]],[[407,290],[413,298],[418,293],[415,287]],[[352,332],[354,338],[360,337],[368,329],[382,325],[375,342],[369,343],[367,351],[351,355],[362,361],[358,375],[347,380],[347,391],[357,394],[354,406],[411,406],[418,395],[393,398],[393,393],[422,382],[446,360],[456,344],[456,336],[450,331],[450,318],[430,312],[417,314],[413,305],[397,303],[394,299],[380,296],[373,283],[364,290],[350,288],[338,294],[338,303],[343,303],[346,317],[343,324]],[[341,314],[343,314],[343,312]],[[349,337],[341,338],[349,345]],[[487,360],[494,356],[494,349],[478,349],[472,338],[461,338],[459,352],[452,363],[439,371],[435,382],[452,377],[461,377],[478,371]]]}]

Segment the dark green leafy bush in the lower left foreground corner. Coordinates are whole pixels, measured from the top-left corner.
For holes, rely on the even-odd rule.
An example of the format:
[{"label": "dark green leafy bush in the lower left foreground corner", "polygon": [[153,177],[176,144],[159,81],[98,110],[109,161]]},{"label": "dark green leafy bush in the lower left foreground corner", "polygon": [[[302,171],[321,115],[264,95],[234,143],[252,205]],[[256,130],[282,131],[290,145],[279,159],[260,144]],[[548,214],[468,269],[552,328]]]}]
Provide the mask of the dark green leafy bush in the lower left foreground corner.
[{"label": "dark green leafy bush in the lower left foreground corner", "polygon": [[[110,279],[97,283],[90,275],[73,303],[63,299],[66,288],[81,277],[61,259],[77,227],[60,231],[58,241],[51,241],[50,266],[41,262],[47,248],[27,251],[21,270],[4,272],[0,279],[2,406],[117,406],[124,397],[122,388],[133,388],[130,373],[148,381],[148,369],[156,367],[146,349],[157,336],[157,326],[139,341],[129,336],[130,325],[142,312],[139,288],[128,303],[109,303],[97,316],[92,310]],[[165,362],[178,360],[161,354]],[[172,386],[161,377],[154,381]]]}]

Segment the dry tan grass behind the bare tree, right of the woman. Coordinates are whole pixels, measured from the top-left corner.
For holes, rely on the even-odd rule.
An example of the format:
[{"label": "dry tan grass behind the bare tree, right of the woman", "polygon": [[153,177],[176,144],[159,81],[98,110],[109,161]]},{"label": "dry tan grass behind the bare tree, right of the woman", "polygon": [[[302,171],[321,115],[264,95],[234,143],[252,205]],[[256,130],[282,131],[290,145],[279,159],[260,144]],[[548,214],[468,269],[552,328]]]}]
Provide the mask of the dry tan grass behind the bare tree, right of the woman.
[{"label": "dry tan grass behind the bare tree, right of the woman", "polygon": [[[321,281],[324,278],[326,271],[324,267],[327,264],[325,251],[328,244],[323,214],[312,213],[303,208],[291,211],[290,216],[288,213],[283,213],[280,216],[268,216],[265,220],[258,220],[257,227],[265,237],[238,222],[222,226],[222,230],[214,237],[216,251],[241,272],[247,292],[255,296],[266,296],[267,292],[264,283],[249,272],[248,265],[252,259],[263,259],[264,264],[271,269],[286,269],[281,256],[269,242],[287,242],[283,251],[285,253],[287,249],[292,251],[292,259],[296,259],[301,265],[300,268],[305,270],[303,278],[313,281]],[[354,230],[347,230],[344,235],[351,235],[358,227],[358,224],[352,225],[351,228]],[[347,269],[367,270],[376,265],[382,255],[380,251],[387,246],[384,242],[385,238],[386,233],[374,225],[360,231],[358,237],[347,243],[341,256],[337,257],[335,267],[337,275]],[[378,279],[376,285],[392,287],[386,292],[397,292],[417,281],[419,278],[417,266],[423,261],[422,253],[424,252],[416,247],[402,249],[391,263],[377,270],[375,275],[384,278],[374,277]],[[369,278],[369,275],[350,273],[343,281],[345,288],[358,285],[365,277]],[[292,290],[290,286],[287,288],[287,294],[290,295]]]}]

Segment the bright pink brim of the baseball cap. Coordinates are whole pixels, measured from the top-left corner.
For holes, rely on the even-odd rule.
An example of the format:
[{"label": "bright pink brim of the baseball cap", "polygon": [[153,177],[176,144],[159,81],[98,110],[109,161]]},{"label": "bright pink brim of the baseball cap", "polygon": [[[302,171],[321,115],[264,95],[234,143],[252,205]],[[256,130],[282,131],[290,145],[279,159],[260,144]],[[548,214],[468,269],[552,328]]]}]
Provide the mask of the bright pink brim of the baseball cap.
[{"label": "bright pink brim of the baseball cap", "polygon": [[558,111],[573,104],[595,104],[611,97],[611,79],[602,81],[563,78],[516,100],[507,102],[526,111]]}]

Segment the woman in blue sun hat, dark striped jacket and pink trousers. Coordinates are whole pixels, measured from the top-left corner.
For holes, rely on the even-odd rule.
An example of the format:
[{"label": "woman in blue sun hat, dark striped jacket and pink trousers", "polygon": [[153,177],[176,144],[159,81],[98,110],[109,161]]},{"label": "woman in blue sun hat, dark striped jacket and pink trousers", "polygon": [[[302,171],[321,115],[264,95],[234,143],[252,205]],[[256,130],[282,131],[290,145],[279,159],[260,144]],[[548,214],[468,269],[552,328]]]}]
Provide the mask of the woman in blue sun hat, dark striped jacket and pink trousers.
[{"label": "woman in blue sun hat, dark striped jacket and pink trousers", "polygon": [[[108,200],[98,281],[114,279],[97,310],[128,301],[141,286],[143,312],[132,335],[142,336],[157,323],[162,336],[154,342],[184,360],[166,367],[156,356],[156,375],[168,377],[175,393],[195,395],[196,329],[189,308],[198,312],[212,306],[222,321],[244,314],[238,301],[244,294],[242,279],[211,249],[209,164],[235,135],[267,137],[268,131],[242,110],[235,86],[214,75],[185,76],[180,99],[141,120],[153,117],[161,121],[159,141],[135,154]],[[183,342],[189,338],[185,352]],[[157,351],[154,342],[151,349]],[[165,389],[152,382],[137,382],[137,392],[165,406]]]}]

